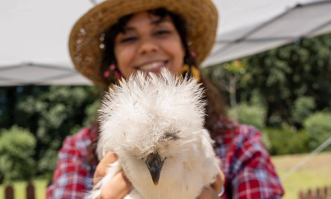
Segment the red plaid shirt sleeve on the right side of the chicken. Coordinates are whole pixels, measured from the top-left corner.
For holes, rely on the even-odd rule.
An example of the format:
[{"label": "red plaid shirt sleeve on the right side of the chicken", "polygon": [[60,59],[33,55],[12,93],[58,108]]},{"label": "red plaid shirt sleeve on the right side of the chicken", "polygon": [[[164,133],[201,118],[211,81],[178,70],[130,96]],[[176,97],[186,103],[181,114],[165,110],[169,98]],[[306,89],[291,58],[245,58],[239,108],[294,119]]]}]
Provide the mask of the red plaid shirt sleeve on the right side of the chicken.
[{"label": "red plaid shirt sleeve on the right side of the chicken", "polygon": [[281,198],[284,190],[256,129],[246,127],[234,154],[232,198]]}]

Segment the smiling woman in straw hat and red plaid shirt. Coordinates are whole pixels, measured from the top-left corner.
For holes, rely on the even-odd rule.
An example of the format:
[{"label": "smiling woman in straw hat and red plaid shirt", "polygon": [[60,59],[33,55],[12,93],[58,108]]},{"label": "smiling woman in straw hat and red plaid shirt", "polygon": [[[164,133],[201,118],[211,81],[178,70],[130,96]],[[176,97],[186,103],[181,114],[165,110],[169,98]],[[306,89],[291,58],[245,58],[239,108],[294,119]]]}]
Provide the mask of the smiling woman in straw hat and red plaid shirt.
[{"label": "smiling woman in straw hat and red plaid shirt", "polygon": [[[208,56],[216,34],[217,11],[210,0],[108,0],[95,6],[73,27],[71,58],[79,72],[103,88],[137,70],[158,73],[162,67],[193,75],[207,89],[206,125],[216,141],[221,170],[199,198],[280,198],[284,191],[252,127],[223,119],[217,90],[195,66]],[[94,154],[97,127],[69,136],[59,152],[54,182],[47,198],[81,198],[105,175],[116,155],[100,162]],[[225,175],[225,179],[224,179]],[[131,190],[120,172],[103,188],[101,198],[122,198]]]}]

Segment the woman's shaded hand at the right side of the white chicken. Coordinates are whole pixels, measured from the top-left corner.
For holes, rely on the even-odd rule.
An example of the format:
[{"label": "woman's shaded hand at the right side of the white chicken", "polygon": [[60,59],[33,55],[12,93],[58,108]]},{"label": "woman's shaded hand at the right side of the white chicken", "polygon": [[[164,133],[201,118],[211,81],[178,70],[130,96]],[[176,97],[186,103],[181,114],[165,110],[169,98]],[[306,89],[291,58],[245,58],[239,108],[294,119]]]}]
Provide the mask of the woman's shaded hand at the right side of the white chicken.
[{"label": "woman's shaded hand at the right side of the white chicken", "polygon": [[218,193],[222,190],[225,177],[221,171],[216,175],[216,181],[211,184],[211,187],[205,187],[197,199],[218,199]]}]

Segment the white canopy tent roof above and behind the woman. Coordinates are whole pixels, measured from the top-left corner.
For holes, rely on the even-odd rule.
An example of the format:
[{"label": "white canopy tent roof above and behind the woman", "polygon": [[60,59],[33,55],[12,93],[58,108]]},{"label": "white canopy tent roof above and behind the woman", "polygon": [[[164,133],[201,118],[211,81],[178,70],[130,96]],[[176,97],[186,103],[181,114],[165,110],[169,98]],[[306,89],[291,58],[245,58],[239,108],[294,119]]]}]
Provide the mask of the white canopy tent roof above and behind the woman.
[{"label": "white canopy tent roof above and behind the woman", "polygon": [[[331,32],[331,0],[213,0],[217,41],[203,66]],[[75,21],[101,0],[0,3],[0,86],[89,85],[73,67]]]}]

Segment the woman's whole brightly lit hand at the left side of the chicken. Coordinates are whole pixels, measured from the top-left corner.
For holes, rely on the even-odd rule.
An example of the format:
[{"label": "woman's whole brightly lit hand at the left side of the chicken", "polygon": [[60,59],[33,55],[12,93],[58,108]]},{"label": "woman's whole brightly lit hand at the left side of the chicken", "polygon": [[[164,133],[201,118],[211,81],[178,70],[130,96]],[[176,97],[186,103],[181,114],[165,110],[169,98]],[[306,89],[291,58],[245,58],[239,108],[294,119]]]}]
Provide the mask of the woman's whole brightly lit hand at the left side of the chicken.
[{"label": "woman's whole brightly lit hand at the left side of the chicken", "polygon": [[[108,152],[100,161],[93,176],[94,185],[106,175],[109,164],[117,160],[116,154]],[[116,174],[101,190],[100,199],[122,199],[131,190],[131,183],[124,177],[123,171]]]}]

